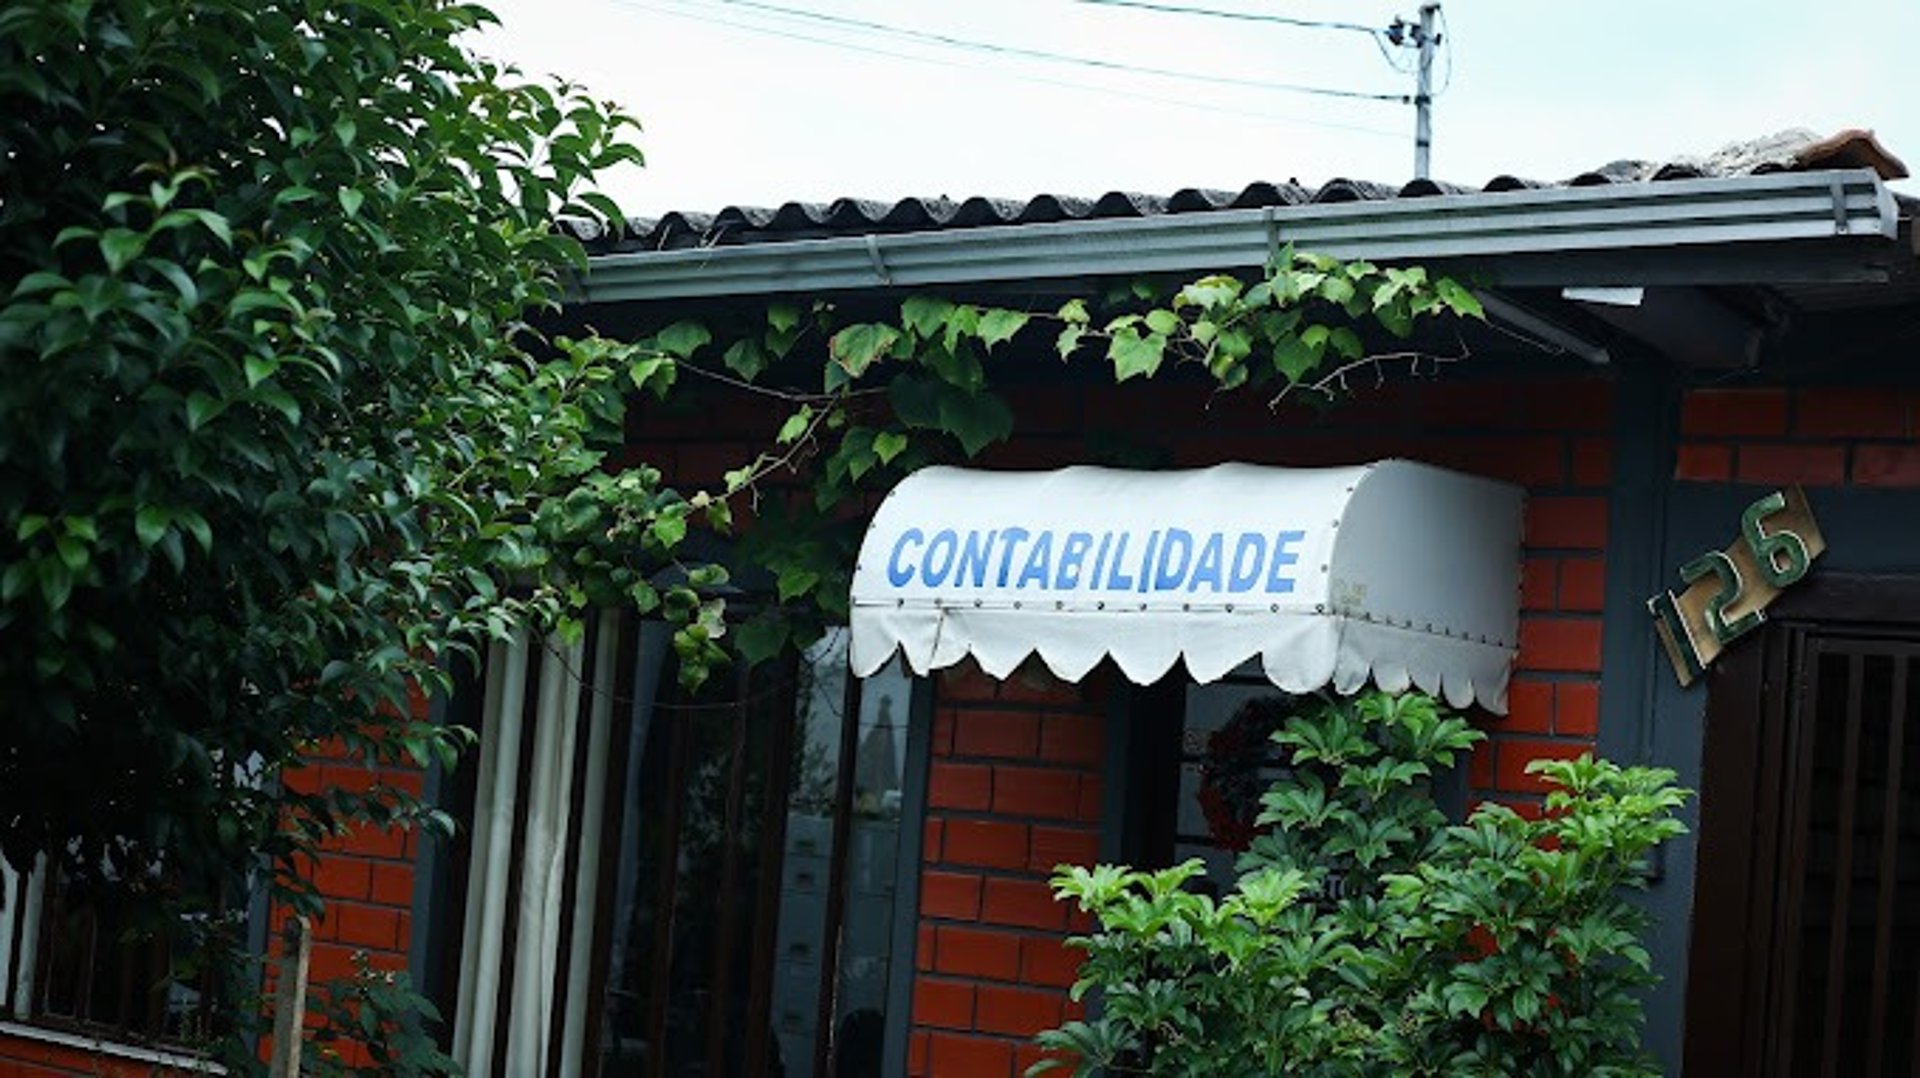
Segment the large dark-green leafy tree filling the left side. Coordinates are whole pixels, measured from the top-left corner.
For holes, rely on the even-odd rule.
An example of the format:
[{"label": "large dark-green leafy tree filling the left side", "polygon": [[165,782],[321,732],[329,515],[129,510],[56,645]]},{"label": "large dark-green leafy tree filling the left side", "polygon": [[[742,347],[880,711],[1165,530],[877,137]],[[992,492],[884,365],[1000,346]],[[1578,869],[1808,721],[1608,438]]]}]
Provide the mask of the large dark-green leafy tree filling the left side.
[{"label": "large dark-green leafy tree filling the left side", "polygon": [[[632,121],[463,48],[445,0],[0,8],[0,851],[219,911],[396,790],[296,794],[338,738],[451,755],[415,686],[670,532],[599,469],[626,363],[526,321]],[[670,371],[655,380],[662,388]],[[670,536],[668,536],[670,538]],[[632,542],[632,563],[668,561]],[[601,584],[614,578],[607,565]],[[655,601],[697,607],[689,586]],[[200,920],[204,922],[204,919]]]}]

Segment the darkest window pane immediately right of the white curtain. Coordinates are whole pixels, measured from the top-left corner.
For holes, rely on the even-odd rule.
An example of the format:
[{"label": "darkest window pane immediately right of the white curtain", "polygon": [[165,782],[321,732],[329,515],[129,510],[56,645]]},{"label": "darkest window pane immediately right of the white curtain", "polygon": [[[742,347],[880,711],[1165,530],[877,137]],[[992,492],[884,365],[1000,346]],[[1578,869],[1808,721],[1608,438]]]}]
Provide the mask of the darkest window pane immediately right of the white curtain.
[{"label": "darkest window pane immediately right of the white curtain", "polygon": [[624,767],[601,1074],[781,1074],[764,951],[791,667],[662,686],[636,709]]}]

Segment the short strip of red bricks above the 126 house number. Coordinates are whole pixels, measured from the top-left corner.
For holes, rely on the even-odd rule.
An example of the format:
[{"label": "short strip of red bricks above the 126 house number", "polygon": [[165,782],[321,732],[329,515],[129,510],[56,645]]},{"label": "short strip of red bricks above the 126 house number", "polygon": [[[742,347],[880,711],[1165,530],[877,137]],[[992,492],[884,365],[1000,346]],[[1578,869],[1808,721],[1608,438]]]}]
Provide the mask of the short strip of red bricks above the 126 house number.
[{"label": "short strip of red bricks above the 126 house number", "polygon": [[1920,390],[1711,388],[1680,409],[1674,478],[1920,486]]}]

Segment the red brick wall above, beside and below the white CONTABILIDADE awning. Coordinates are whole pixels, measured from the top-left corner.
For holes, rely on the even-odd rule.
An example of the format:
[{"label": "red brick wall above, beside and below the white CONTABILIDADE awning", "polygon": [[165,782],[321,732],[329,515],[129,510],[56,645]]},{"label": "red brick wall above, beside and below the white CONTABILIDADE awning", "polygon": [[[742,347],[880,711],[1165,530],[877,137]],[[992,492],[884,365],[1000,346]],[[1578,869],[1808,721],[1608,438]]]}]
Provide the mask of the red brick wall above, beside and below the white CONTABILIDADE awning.
[{"label": "red brick wall above, beside and below the white CONTABILIDADE awning", "polygon": [[[1340,465],[1409,457],[1528,492],[1521,657],[1511,713],[1488,717],[1469,765],[1475,799],[1534,811],[1536,757],[1590,751],[1599,724],[1613,390],[1605,379],[1398,382],[1327,411],[1204,386],[1044,386],[1010,394],[1016,438],[981,467],[1058,467],[1125,442],[1179,467],[1219,461]],[[636,459],[682,484],[753,459],[783,409],[755,402],[641,415]],[[1052,865],[1098,855],[1102,684],[935,682],[908,1070],[1018,1074],[1031,1036],[1079,1011],[1066,997],[1081,928],[1046,888]]]}]

